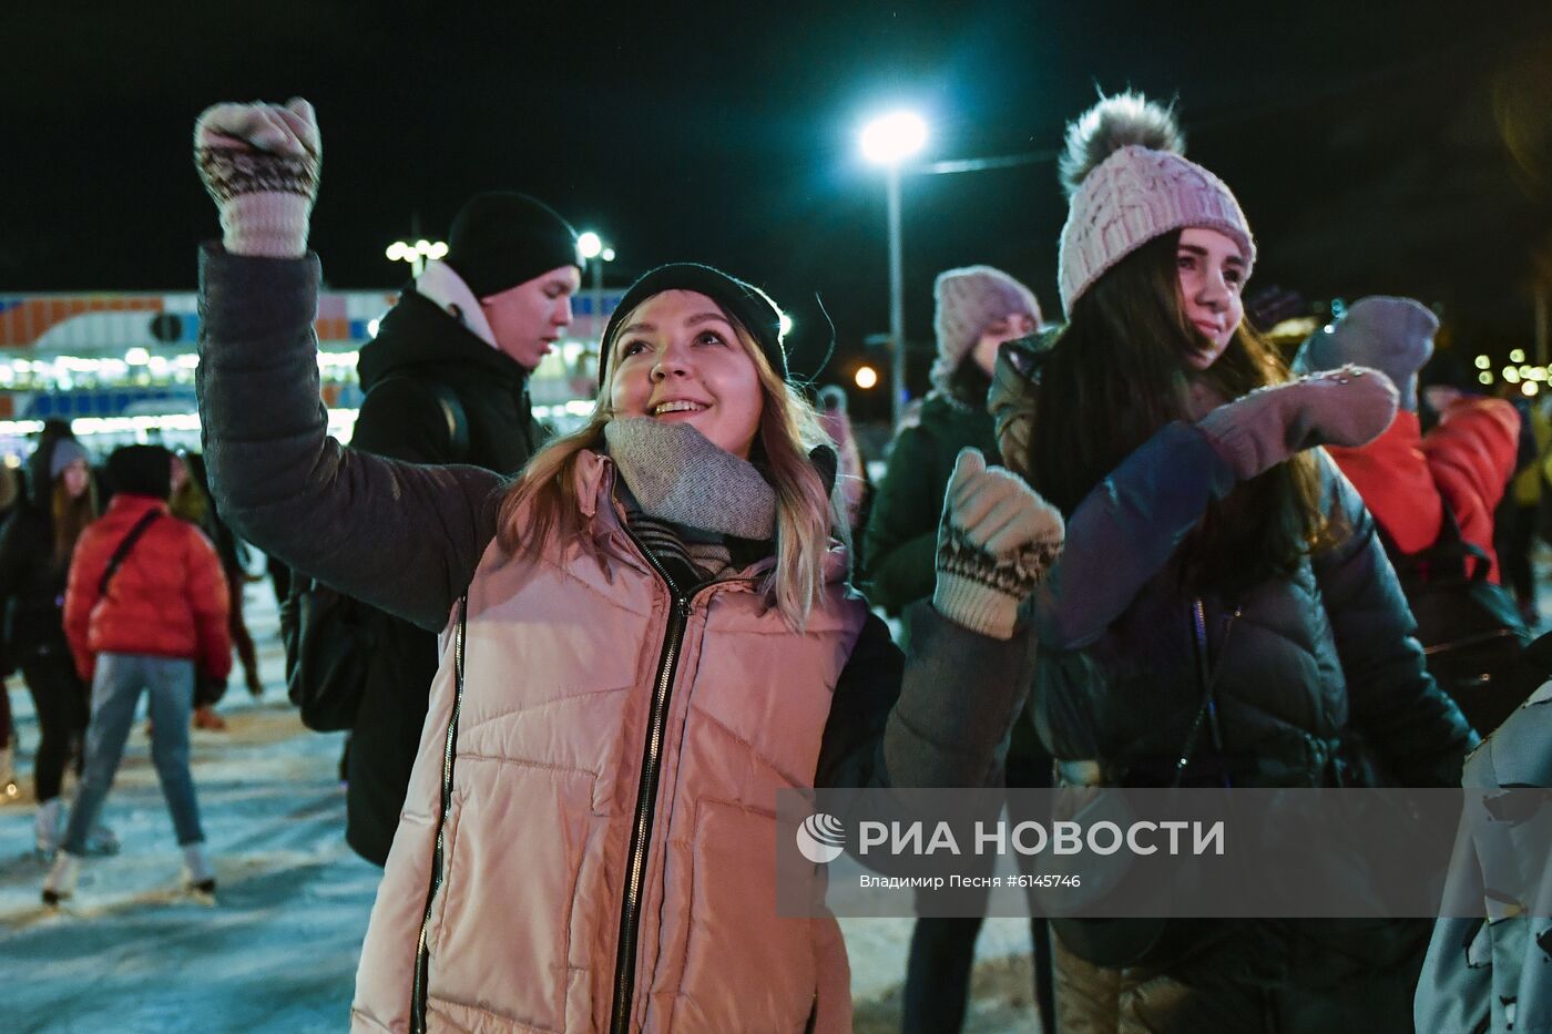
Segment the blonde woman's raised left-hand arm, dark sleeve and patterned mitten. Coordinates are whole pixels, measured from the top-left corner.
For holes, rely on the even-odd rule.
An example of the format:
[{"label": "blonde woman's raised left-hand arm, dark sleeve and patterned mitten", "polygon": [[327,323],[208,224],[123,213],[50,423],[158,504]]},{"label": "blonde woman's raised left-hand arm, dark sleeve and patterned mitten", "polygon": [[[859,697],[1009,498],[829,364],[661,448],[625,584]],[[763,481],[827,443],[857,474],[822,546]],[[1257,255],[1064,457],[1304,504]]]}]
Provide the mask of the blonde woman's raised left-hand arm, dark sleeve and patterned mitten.
[{"label": "blonde woman's raised left-hand arm, dark sleeve and patterned mitten", "polygon": [[200,250],[196,379],[211,491],[245,539],[427,629],[447,623],[495,534],[501,478],[357,453],[327,436],[306,252],[321,146],[312,107],[222,104],[196,126],[220,208]]}]

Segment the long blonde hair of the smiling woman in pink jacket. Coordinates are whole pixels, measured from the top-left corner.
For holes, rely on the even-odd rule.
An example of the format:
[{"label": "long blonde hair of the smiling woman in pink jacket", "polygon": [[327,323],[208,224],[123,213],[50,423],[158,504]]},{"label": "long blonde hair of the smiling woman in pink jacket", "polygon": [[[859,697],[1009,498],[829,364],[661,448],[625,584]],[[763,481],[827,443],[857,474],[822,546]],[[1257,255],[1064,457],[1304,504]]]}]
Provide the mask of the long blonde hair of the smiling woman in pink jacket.
[{"label": "long blonde hair of the smiling woman in pink jacket", "polygon": [[[776,376],[748,328],[720,304],[717,307],[733,326],[743,351],[754,360],[760,383],[760,425],[750,463],[776,489],[776,567],[760,590],[774,595],[788,626],[802,629],[824,592],[824,556],[830,534],[844,537],[846,533],[846,522],[840,519],[835,500],[826,494],[824,481],[809,460],[810,449],[827,444],[829,438],[809,401]],[[627,318],[616,321],[616,328],[629,323],[627,314]],[[618,338],[616,331],[602,348],[615,348]],[[610,366],[618,362],[613,357]],[[537,556],[551,540],[577,542],[599,564],[605,562],[602,540],[585,534],[587,522],[576,497],[574,474],[584,450],[602,449],[604,425],[613,418],[605,382],[598,387],[588,422],[557,438],[528,461],[501,500],[497,540],[503,550]]]}]

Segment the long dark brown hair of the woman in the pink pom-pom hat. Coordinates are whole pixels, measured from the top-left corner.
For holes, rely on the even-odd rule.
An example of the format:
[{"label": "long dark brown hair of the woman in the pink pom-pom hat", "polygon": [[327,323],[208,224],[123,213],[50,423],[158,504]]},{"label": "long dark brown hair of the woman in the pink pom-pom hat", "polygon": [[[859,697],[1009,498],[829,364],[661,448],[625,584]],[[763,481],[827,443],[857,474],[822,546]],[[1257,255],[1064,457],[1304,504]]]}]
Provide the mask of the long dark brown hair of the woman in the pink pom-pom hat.
[{"label": "long dark brown hair of the woman in the pink pom-pom hat", "polygon": [[[1193,419],[1186,357],[1201,340],[1180,298],[1178,241],[1155,238],[1100,276],[1043,357],[1029,480],[1065,514],[1159,427]],[[1288,380],[1288,368],[1242,321],[1200,377],[1235,399]],[[1297,453],[1207,506],[1181,574],[1193,590],[1237,592],[1291,573],[1330,542],[1316,460]]]}]

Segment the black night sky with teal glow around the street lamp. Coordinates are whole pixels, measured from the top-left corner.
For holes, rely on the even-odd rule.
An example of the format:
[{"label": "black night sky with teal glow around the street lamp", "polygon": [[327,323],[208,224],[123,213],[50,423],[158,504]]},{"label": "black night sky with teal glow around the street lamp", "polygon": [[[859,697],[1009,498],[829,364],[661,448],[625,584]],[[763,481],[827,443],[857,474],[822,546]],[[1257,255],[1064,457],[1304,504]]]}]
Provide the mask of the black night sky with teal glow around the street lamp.
[{"label": "black night sky with teal glow around the street lamp", "polygon": [[905,180],[922,349],[950,265],[999,265],[1058,315],[1049,155],[1096,85],[1178,96],[1189,157],[1257,234],[1251,292],[1414,295],[1507,351],[1552,258],[1547,3],[8,6],[0,290],[191,289],[216,233],[194,116],[298,93],[323,129],[332,286],[396,286],[390,241],[525,189],[613,244],[611,283],[691,258],[767,286],[799,370],[818,293],[832,377],[888,323],[883,185],[855,137],[896,104],[927,116],[923,160],[1034,155]]}]

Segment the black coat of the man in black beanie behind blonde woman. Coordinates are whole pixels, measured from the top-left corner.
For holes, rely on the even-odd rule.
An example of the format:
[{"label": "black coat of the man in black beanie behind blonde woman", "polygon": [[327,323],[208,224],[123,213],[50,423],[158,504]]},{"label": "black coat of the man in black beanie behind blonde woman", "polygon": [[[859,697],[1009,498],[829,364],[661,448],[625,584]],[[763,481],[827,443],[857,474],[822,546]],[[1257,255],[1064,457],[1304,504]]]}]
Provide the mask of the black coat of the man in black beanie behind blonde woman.
[{"label": "black coat of the man in black beanie behind blonde woman", "polygon": [[[362,348],[355,370],[366,401],[351,446],[363,452],[411,463],[470,463],[514,475],[543,441],[528,401],[528,371],[413,287]],[[430,383],[458,399],[464,449],[455,449],[449,413],[427,390]],[[425,723],[436,637],[380,610],[359,610],[374,651],[366,696],[351,728],[345,837],[357,854],[382,865]]]}]

